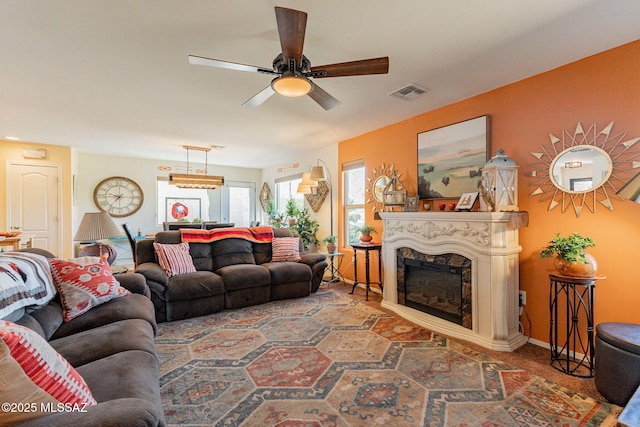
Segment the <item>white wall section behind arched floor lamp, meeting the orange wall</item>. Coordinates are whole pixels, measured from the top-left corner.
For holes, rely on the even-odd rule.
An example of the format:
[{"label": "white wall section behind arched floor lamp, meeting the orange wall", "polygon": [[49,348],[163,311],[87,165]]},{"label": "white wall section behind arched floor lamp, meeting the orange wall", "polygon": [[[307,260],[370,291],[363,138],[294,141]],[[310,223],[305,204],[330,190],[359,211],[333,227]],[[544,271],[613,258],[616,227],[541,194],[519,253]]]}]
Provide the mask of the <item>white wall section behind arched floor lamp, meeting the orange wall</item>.
[{"label": "white wall section behind arched floor lamp, meeting the orange wall", "polygon": [[[333,234],[338,234],[338,210],[340,203],[338,200],[338,144],[333,144],[328,147],[324,147],[315,151],[310,151],[304,156],[298,156],[295,158],[284,158],[282,162],[274,164],[272,166],[262,169],[262,182],[269,184],[272,195],[275,197],[275,180],[277,178],[284,178],[292,175],[299,175],[302,172],[308,172],[311,166],[318,164],[317,160],[320,159],[329,169],[331,175],[331,198],[333,199]],[[322,163],[321,163],[322,164]],[[256,186],[256,193],[260,193],[262,188],[262,182]],[[312,218],[320,224],[318,230],[318,240],[322,242],[326,236],[330,233],[330,203],[329,197],[325,199],[318,212],[313,212],[311,206],[305,200],[305,207],[309,209],[309,213]],[[260,208],[258,203],[258,209],[261,215],[258,215],[262,224],[268,224],[268,218],[266,214]],[[324,243],[321,243],[320,250],[324,250]]]}]

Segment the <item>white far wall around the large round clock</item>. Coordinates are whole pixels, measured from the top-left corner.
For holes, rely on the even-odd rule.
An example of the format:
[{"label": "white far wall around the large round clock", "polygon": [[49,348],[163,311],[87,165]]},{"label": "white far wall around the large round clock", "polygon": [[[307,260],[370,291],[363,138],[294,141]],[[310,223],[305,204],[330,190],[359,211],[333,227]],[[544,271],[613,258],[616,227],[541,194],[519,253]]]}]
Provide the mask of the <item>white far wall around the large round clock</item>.
[{"label": "white far wall around the large round clock", "polygon": [[[185,158],[186,160],[186,158]],[[168,176],[169,171],[160,170],[159,167],[184,168],[185,162],[175,162],[166,160],[147,160],[129,157],[104,156],[96,154],[78,153],[77,157],[77,201],[74,206],[73,233],[78,229],[82,215],[85,212],[97,212],[98,208],[93,203],[93,189],[105,178],[110,176],[124,176],[134,180],[142,187],[144,192],[144,203],[138,212],[124,217],[115,218],[115,223],[126,222],[132,230],[138,228],[143,234],[160,231],[156,218],[156,180],[158,176]],[[204,164],[190,162],[192,169],[203,168]],[[222,175],[225,181],[245,181],[255,182],[256,188],[262,185],[262,176],[259,169],[235,168],[227,166],[208,165],[210,175]],[[218,191],[218,190],[216,190]],[[260,217],[260,204],[256,202]],[[123,231],[124,234],[124,231]]]}]

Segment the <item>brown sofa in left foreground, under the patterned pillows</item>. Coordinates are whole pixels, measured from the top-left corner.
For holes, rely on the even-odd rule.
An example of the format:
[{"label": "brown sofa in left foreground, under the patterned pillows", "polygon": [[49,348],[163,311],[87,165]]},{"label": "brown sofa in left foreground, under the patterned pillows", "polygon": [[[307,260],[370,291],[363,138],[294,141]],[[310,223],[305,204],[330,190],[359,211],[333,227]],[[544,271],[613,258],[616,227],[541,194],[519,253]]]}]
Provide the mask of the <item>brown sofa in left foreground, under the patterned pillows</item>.
[{"label": "brown sofa in left foreground, under the patterned pillows", "polygon": [[[32,250],[52,257],[42,250]],[[149,288],[140,274],[116,276],[132,295],[63,321],[60,296],[14,323],[45,338],[82,376],[98,402],[87,412],[58,412],[24,426],[164,426],[157,330]]]}]

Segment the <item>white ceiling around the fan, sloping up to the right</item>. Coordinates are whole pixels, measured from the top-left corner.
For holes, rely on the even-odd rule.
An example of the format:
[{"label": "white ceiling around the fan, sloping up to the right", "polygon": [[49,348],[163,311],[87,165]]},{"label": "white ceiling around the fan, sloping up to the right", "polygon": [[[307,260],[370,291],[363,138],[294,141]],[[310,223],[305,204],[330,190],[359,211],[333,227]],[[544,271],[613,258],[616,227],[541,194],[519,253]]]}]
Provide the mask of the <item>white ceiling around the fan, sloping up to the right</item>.
[{"label": "white ceiling around the fan, sloping up to the right", "polygon": [[[274,95],[274,6],[309,14],[312,65],[389,56],[389,74],[317,80],[342,102]],[[637,0],[0,0],[0,137],[82,152],[265,167],[640,38]],[[404,101],[407,84],[428,90]],[[192,157],[192,160],[196,160]]]}]

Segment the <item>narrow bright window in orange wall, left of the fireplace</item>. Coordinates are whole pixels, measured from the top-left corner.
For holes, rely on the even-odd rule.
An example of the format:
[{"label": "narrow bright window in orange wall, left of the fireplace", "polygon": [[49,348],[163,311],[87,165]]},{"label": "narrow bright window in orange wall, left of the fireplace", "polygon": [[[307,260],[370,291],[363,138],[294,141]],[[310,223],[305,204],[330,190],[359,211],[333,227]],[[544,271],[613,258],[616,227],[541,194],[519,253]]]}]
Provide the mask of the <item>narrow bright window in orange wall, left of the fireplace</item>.
[{"label": "narrow bright window in orange wall, left of the fireplace", "polygon": [[358,229],[364,225],[364,162],[352,162],[342,165],[344,182],[344,235],[346,244],[357,243],[360,237]]}]

